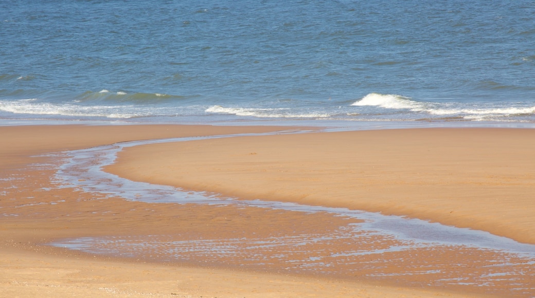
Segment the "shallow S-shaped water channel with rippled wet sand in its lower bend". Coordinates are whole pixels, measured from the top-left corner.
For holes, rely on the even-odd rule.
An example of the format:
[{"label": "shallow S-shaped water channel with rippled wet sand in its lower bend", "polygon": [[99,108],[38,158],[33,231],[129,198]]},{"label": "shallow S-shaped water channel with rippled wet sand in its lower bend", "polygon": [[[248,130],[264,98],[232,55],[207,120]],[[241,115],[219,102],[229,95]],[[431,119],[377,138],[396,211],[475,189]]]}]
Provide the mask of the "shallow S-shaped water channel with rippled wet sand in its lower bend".
[{"label": "shallow S-shaped water channel with rippled wet sand in its lower bend", "polygon": [[142,257],[157,262],[357,277],[395,281],[407,286],[444,286],[500,295],[533,296],[535,293],[535,245],[521,244],[484,231],[414,218],[185,192],[171,186],[129,181],[102,170],[102,167],[112,164],[117,153],[126,147],[219,137],[233,136],[144,140],[66,152],[68,157],[55,179],[66,187],[79,187],[86,192],[128,200],[194,203],[213,208],[264,208],[351,220],[329,233],[314,229],[306,233],[290,230],[273,231],[262,237],[248,235],[213,239],[156,233],[63,239],[53,245],[95,254]]}]

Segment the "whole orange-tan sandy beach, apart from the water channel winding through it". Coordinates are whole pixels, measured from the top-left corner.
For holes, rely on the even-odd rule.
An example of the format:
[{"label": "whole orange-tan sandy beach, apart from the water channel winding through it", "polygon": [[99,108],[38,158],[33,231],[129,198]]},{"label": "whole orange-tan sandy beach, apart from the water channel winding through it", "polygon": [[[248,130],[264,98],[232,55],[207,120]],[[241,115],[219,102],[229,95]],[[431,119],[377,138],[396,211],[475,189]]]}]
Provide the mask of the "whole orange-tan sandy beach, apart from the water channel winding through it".
[{"label": "whole orange-tan sandy beach, apart from the water channel winding through it", "polygon": [[[362,221],[328,213],[108,198],[59,187],[53,179],[62,158],[51,153],[128,140],[292,129],[0,127],[5,144],[0,148],[0,296],[533,296],[533,260],[510,254],[421,247],[361,254],[358,260],[348,256],[353,263],[329,269],[318,263],[298,268],[288,266],[280,251],[265,249],[265,242],[308,241],[284,246],[291,260],[304,260],[309,252],[333,255],[356,244],[305,236],[324,239]],[[105,170],[187,191],[401,215],[535,244],[533,148],[530,129],[314,132],[134,146]],[[399,241],[359,237],[366,239],[358,243],[363,252]],[[102,249],[111,242],[125,246],[119,253],[100,254],[50,245],[82,238],[103,239]],[[236,244],[236,239],[245,240]],[[221,253],[221,247],[233,246],[247,250],[240,250],[241,256],[251,254],[252,242],[262,242],[262,248],[255,247],[269,262]],[[215,253],[196,254],[199,243]],[[190,245],[189,250],[178,244]],[[132,253],[129,247],[144,248]],[[175,256],[177,249],[181,257],[170,259],[169,251]],[[514,265],[500,271],[500,262]],[[457,276],[465,276],[467,285],[434,282]],[[486,287],[473,284],[482,278],[494,279]]]}]

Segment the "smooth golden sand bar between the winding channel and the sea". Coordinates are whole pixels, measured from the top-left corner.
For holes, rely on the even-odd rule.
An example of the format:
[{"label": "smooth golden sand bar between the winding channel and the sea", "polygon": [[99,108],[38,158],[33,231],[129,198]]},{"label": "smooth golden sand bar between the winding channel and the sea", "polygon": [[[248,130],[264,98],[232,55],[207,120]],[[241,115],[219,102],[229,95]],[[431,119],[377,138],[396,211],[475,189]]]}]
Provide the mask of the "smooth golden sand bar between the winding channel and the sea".
[{"label": "smooth golden sand bar between the winding channel and the sea", "polygon": [[107,170],[243,199],[406,215],[535,244],[531,129],[372,130],[156,144],[128,148]]}]

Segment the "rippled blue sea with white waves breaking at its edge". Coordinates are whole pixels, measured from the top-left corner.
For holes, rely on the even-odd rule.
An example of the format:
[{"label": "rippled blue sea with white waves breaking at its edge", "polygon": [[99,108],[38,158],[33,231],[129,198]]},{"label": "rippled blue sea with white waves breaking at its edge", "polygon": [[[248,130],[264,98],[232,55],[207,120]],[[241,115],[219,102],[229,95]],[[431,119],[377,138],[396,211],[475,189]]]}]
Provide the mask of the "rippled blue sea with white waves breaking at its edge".
[{"label": "rippled blue sea with white waves breaking at its edge", "polygon": [[84,121],[535,127],[535,2],[0,2],[0,124]]}]

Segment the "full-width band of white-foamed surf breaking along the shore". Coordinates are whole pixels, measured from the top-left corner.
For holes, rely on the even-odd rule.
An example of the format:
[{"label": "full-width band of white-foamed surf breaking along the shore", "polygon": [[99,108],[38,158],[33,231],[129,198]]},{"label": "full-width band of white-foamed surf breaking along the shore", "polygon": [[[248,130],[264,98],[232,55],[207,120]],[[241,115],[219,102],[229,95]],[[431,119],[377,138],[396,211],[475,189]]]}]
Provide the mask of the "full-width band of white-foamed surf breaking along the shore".
[{"label": "full-width band of white-foamed surf breaking along the shore", "polygon": [[[19,99],[12,99],[13,97]],[[24,97],[24,98],[23,98]],[[47,117],[202,117],[210,114],[264,119],[307,119],[349,121],[519,121],[535,122],[533,101],[518,102],[430,102],[410,97],[370,93],[360,100],[263,100],[256,106],[237,98],[174,96],[128,91],[86,91],[72,96],[37,90],[0,90],[0,113],[49,115]],[[240,106],[241,105],[241,106]],[[33,117],[33,116],[32,116]],[[213,119],[213,118],[212,118]],[[219,119],[219,118],[218,118]]]}]

